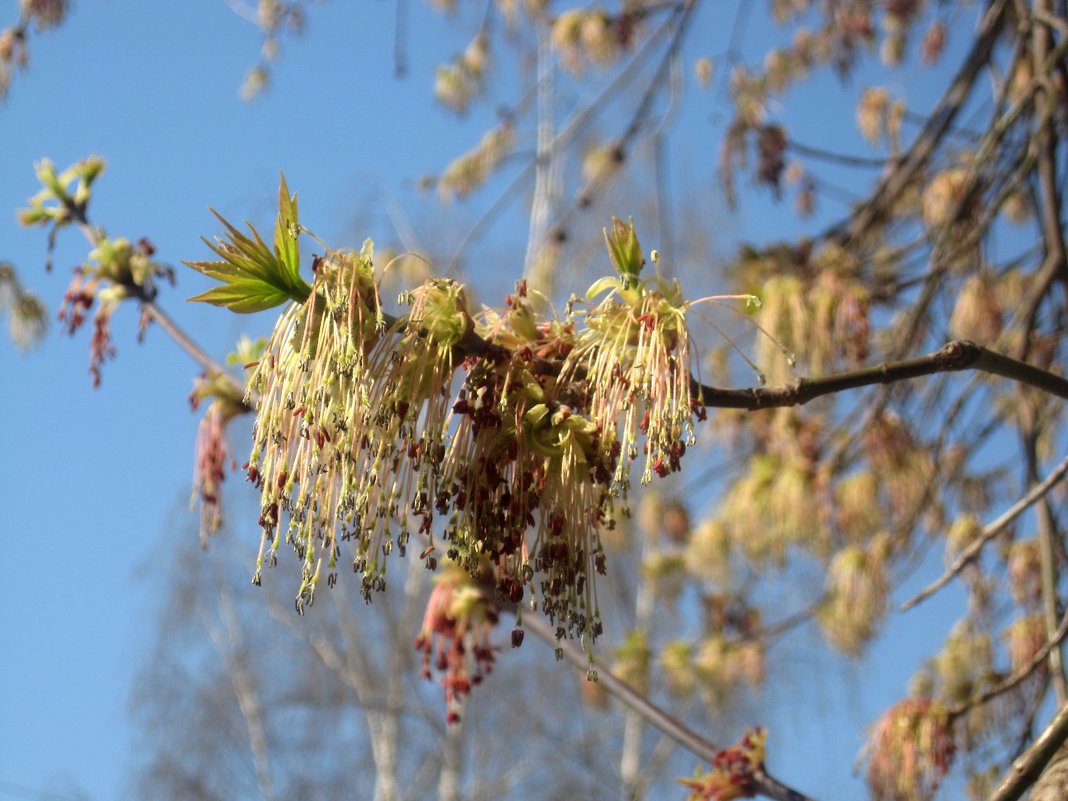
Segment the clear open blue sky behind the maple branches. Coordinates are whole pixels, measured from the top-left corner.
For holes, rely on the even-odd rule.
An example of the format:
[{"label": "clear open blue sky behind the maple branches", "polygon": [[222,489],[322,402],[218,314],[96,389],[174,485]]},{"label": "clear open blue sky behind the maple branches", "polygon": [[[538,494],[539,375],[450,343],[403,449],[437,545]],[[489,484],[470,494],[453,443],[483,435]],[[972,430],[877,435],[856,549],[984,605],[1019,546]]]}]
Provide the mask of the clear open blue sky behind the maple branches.
[{"label": "clear open blue sky behind the maple branches", "polygon": [[[0,2],[0,23],[13,20],[16,10],[14,1]],[[765,26],[759,16],[752,22],[757,32]],[[68,232],[60,238],[56,269],[45,274],[45,237],[15,223],[14,210],[35,191],[33,162],[44,156],[60,167],[93,153],[105,156],[109,167],[94,195],[94,220],[112,235],[150,237],[159,257],[175,265],[205,257],[199,237],[216,227],[209,205],[232,219],[268,223],[282,169],[300,194],[302,220],[331,244],[392,238],[384,202],[410,209],[417,238],[470,223],[475,201],[431,220],[434,202],[420,198],[415,186],[420,175],[439,172],[469,148],[491,115],[483,110],[457,122],[433,105],[433,69],[464,46],[462,37],[419,3],[410,19],[409,77],[398,81],[392,3],[313,7],[305,35],[283,43],[269,92],[245,104],[237,90],[256,59],[258,36],[222,0],[77,3],[66,25],[32,37],[32,63],[0,106],[0,260],[13,262],[54,309],[69,268],[84,257],[84,242]],[[701,25],[695,40],[722,40],[722,20],[713,13],[706,10]],[[690,47],[688,54],[706,51]],[[923,107],[930,90],[914,89],[915,78],[905,70],[895,80]],[[854,85],[861,83],[863,75]],[[851,125],[851,109],[836,87],[818,82],[791,97],[791,108],[802,111],[796,136],[855,150],[851,127],[824,125],[828,105]],[[720,132],[710,124],[713,112],[711,100],[691,105],[673,139],[679,163],[698,164],[697,179],[709,185]],[[384,201],[370,217],[378,229],[354,235],[354,219],[373,201]],[[827,202],[823,210],[838,209]],[[735,217],[716,214],[725,227],[717,242],[721,256],[741,238],[800,230],[788,204],[763,198],[747,200]],[[513,221],[493,235],[521,244],[522,232]],[[515,267],[496,267],[489,280],[506,287],[518,277],[521,245],[516,252]],[[184,302],[202,288],[199,277],[179,268],[179,285],[164,290],[162,303],[209,351],[222,356],[241,332],[268,328],[264,317],[237,318]],[[701,287],[698,294],[706,288],[732,290]],[[138,345],[132,308],[117,312],[113,328],[119,358],[106,365],[96,391],[87,373],[85,331],[70,341],[53,327],[25,357],[0,343],[6,434],[0,462],[6,546],[0,561],[0,799],[122,797],[127,755],[137,748],[127,723],[129,686],[153,637],[169,548],[195,519],[187,501],[198,418],[187,396],[197,370],[159,330]],[[896,619],[897,635],[855,669],[863,680],[845,693],[839,674],[827,674],[819,663],[799,668],[798,693],[811,697],[783,716],[776,773],[828,798],[860,792],[855,780],[843,775],[855,756],[859,727],[904,692],[900,643],[912,642],[906,658],[914,663],[925,641],[930,647],[944,631],[953,609],[953,596],[932,602],[944,613],[936,612],[939,624],[930,631]],[[886,662],[892,671],[879,666]],[[843,678],[849,679],[848,671]],[[816,755],[835,752],[837,759],[817,765]]]}]

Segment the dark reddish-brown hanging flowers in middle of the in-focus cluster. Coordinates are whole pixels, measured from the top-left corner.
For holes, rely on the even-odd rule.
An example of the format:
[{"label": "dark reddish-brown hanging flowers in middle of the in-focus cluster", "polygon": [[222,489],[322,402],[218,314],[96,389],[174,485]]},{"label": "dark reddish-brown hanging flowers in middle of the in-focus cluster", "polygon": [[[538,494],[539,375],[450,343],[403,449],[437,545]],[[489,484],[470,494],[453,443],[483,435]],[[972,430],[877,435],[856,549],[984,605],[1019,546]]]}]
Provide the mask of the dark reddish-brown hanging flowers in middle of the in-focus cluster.
[{"label": "dark reddish-brown hanging flowers in middle of the in-focus cluster", "polygon": [[491,323],[511,349],[466,362],[444,466],[456,513],[446,539],[468,569],[490,557],[503,597],[518,603],[529,588],[559,635],[588,645],[600,633],[593,577],[604,571],[599,529],[612,524],[611,462],[581,413],[584,397],[536,365],[570,349],[571,329],[536,325],[525,292]]}]

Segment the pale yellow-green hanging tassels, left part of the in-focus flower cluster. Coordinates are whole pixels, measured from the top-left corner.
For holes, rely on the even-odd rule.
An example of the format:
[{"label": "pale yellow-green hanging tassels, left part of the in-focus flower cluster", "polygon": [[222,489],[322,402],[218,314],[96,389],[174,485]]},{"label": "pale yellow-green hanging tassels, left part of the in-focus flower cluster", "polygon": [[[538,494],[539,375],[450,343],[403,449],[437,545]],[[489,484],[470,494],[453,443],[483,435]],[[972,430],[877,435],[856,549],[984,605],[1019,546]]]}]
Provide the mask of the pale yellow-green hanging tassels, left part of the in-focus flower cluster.
[{"label": "pale yellow-green hanging tassels, left part of the in-focus flower cluster", "polygon": [[372,260],[370,241],[319,258],[308,300],[283,313],[250,377],[260,400],[247,470],[263,489],[256,581],[284,530],[304,563],[298,610],[324,565],[332,574],[339,539],[356,541],[367,595],[384,586],[394,543],[403,551],[411,528],[430,533],[454,348],[473,324],[462,287],[431,279],[388,325]]}]

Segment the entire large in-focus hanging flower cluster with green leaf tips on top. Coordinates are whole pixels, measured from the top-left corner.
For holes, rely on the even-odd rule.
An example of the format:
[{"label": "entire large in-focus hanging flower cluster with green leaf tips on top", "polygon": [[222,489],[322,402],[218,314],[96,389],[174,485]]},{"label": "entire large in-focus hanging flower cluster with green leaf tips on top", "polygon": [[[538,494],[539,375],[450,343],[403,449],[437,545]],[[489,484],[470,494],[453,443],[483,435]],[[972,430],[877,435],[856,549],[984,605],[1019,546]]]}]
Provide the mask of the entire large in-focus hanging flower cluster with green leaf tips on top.
[{"label": "entire large in-focus hanging flower cluster with green leaf tips on top", "polygon": [[640,278],[633,222],[615,220],[617,277],[592,287],[584,312],[546,317],[520,283],[506,310],[476,319],[460,284],[431,278],[400,295],[407,313],[394,318],[370,240],[317,257],[313,283],[298,281],[284,187],[280,204],[273,254],[227,226],[213,245],[222,261],[193,264],[225,282],[198,299],[235,311],[297,301],[245,397],[256,411],[246,470],[262,490],[254,581],[286,541],[302,562],[303,611],[350,540],[370,597],[414,534],[428,568],[444,556],[496,602],[527,600],[588,649],[601,628],[600,532],[626,502],[631,465],[643,460],[646,483],[677,470],[702,413],[678,286]]}]

